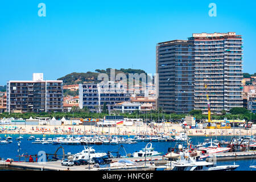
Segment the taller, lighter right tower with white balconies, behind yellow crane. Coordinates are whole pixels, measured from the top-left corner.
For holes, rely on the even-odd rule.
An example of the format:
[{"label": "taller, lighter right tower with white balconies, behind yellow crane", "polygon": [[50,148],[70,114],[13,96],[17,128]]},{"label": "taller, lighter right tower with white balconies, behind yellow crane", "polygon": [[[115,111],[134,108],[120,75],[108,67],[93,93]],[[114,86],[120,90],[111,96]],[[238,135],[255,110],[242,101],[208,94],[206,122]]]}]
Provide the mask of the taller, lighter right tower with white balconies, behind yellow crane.
[{"label": "taller, lighter right tower with white balconies, behind yellow crane", "polygon": [[193,34],[188,39],[195,54],[195,109],[221,113],[242,107],[242,37],[235,32]]}]

